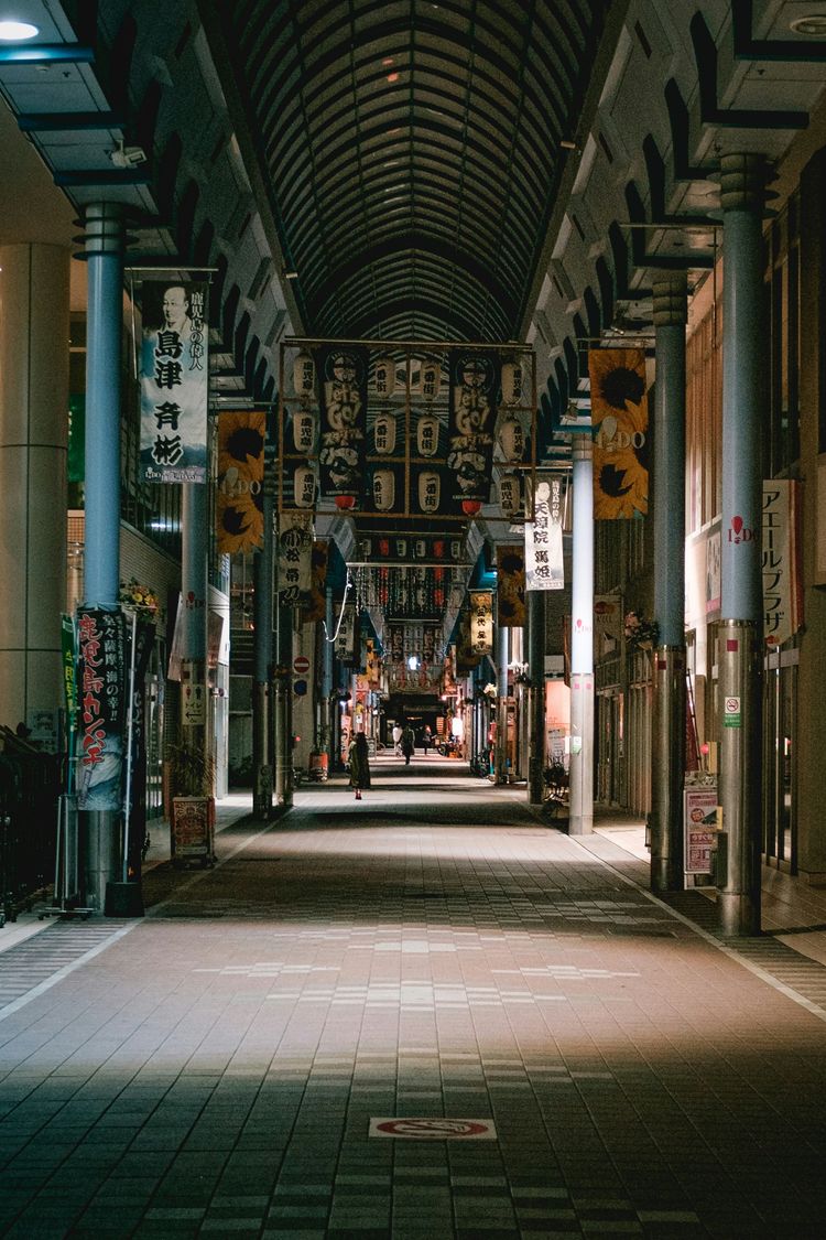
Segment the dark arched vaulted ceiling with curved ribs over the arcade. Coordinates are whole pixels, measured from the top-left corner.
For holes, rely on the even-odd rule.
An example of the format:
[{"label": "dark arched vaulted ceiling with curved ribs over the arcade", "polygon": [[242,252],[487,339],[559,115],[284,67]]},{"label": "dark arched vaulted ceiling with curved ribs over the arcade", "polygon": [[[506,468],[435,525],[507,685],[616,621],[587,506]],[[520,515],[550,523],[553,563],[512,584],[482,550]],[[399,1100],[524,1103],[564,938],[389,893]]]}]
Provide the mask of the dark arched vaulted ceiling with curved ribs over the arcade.
[{"label": "dark arched vaulted ceiling with curved ribs over the arcade", "polygon": [[608,5],[222,6],[307,332],[516,336]]}]

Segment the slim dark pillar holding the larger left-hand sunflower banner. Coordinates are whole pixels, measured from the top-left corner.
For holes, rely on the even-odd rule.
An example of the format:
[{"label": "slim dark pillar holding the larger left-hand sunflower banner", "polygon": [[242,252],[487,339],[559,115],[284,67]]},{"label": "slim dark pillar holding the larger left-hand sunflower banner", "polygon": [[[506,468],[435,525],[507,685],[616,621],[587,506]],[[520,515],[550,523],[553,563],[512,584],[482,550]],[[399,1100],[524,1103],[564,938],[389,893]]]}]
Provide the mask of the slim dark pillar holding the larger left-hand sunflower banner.
[{"label": "slim dark pillar holding the larger left-hand sunflower banner", "polygon": [[272,670],[272,553],[274,502],[270,486],[264,494],[264,537],[254,558],[253,620],[253,813],[269,818],[272,812],[272,765],[270,763],[270,673]]}]

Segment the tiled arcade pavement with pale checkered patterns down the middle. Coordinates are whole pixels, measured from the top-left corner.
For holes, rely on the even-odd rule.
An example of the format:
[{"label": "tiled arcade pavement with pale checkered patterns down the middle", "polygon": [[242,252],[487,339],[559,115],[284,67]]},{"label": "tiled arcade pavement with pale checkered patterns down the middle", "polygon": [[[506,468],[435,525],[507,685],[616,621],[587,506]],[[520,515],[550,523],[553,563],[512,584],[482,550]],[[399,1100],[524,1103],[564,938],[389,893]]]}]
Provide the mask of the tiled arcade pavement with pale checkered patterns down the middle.
[{"label": "tiled arcade pavement with pale checkered patterns down the middle", "polygon": [[826,1236],[822,965],[456,764],[296,801],[0,955],[0,1235]]}]

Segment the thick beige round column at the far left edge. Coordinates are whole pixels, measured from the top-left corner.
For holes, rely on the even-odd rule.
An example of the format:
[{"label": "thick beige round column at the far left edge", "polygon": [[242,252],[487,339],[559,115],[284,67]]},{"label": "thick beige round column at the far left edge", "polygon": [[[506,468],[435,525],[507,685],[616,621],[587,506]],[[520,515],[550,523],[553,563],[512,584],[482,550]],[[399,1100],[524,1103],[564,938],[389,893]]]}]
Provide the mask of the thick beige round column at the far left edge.
[{"label": "thick beige round column at the far left edge", "polygon": [[69,252],[0,247],[0,702],[62,706]]}]

